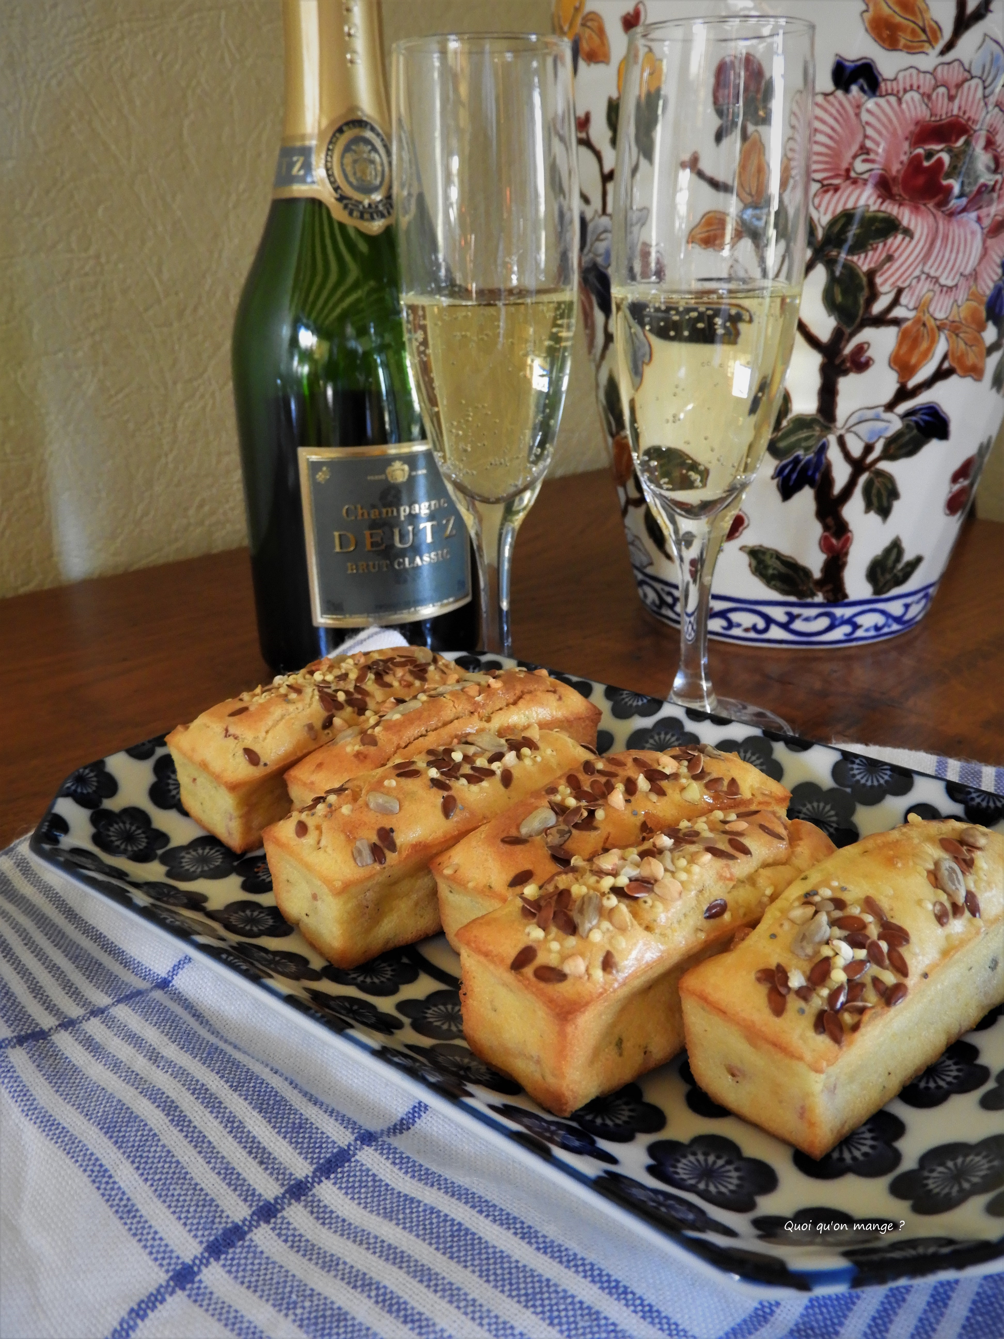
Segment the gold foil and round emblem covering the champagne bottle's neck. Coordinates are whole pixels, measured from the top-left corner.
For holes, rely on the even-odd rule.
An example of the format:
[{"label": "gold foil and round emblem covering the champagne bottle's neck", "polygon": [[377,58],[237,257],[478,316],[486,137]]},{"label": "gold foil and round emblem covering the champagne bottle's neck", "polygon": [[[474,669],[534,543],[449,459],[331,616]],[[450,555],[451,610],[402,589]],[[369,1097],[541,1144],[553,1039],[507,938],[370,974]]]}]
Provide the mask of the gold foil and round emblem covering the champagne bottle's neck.
[{"label": "gold foil and round emblem covering the champagne bottle's neck", "polygon": [[394,208],[380,0],[284,0],[282,19],[285,116],[273,197],[311,195],[339,222],[383,232]]}]

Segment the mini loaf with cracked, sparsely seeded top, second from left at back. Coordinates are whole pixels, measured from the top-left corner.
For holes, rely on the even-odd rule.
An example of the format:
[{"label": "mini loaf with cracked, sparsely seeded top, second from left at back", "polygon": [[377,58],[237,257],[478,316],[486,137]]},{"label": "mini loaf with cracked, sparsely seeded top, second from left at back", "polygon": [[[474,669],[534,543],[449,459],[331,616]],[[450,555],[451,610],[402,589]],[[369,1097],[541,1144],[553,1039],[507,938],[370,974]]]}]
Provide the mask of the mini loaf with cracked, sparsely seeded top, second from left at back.
[{"label": "mini loaf with cracked, sparsely seeded top, second from left at back", "polygon": [[601,712],[574,688],[552,679],[546,670],[501,670],[494,678],[431,688],[422,698],[391,703],[380,720],[360,734],[333,740],[303,758],[286,773],[293,805],[340,786],[359,771],[414,758],[427,749],[483,731],[501,738],[521,735],[527,726],[561,730],[584,744],[596,743]]}]

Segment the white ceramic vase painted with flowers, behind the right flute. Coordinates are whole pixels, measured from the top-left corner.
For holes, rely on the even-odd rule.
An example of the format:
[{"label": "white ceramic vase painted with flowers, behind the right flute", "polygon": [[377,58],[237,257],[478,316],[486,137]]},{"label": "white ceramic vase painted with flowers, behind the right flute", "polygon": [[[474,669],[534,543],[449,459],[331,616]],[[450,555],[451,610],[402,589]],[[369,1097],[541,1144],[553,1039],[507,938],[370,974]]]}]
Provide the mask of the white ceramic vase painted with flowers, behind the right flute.
[{"label": "white ceramic vase painted with flowers, behind the right flute", "polygon": [[[667,623],[675,564],[632,470],[613,366],[620,84],[633,27],[728,8],[751,5],[554,5],[577,62],[586,343],[639,593]],[[787,394],[715,570],[711,633],[850,645],[922,619],[1004,414],[1004,31],[987,0],[784,9],[817,24],[811,254]]]}]

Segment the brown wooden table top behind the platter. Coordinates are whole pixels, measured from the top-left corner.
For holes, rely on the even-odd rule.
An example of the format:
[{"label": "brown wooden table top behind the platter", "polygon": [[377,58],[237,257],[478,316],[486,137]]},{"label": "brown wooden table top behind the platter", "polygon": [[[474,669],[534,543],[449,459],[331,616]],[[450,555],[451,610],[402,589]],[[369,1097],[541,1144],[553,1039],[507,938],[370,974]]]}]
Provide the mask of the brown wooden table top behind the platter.
[{"label": "brown wooden table top behind the platter", "polygon": [[[871,647],[711,644],[715,687],[810,739],[1004,762],[1004,525],[971,521],[926,619]],[[515,653],[664,698],[677,635],[641,605],[606,471],[543,485],[515,548]],[[0,848],[63,779],[269,676],[245,549],[0,601]]]}]

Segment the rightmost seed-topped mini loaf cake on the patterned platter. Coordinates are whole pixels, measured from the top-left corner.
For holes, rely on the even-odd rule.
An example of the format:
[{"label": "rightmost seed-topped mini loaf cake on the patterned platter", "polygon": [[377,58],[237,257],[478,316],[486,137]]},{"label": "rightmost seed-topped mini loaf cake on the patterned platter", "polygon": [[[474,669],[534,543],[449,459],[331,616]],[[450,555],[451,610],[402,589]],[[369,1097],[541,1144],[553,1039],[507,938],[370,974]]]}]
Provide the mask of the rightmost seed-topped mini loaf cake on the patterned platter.
[{"label": "rightmost seed-topped mini loaf cake on the patterned platter", "polygon": [[1004,838],[912,821],[846,846],[680,992],[700,1086],[821,1158],[1004,1000]]}]

